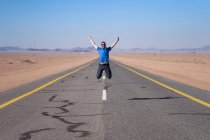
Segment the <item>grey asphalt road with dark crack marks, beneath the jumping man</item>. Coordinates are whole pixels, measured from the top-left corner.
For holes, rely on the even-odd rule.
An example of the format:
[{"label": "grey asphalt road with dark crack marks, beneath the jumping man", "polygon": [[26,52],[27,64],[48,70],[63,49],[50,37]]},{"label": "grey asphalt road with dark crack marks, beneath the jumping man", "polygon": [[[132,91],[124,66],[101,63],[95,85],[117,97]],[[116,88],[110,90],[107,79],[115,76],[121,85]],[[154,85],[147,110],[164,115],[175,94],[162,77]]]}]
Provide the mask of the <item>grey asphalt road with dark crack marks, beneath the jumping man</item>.
[{"label": "grey asphalt road with dark crack marks, beneath the jumping man", "polygon": [[[97,63],[92,63],[0,109],[0,139],[210,139],[210,108],[114,62],[111,62],[111,69],[111,80],[97,80]],[[208,91],[134,70],[210,103]],[[2,92],[0,104],[64,73],[67,71]],[[106,91],[106,100],[102,100],[103,90]]]}]

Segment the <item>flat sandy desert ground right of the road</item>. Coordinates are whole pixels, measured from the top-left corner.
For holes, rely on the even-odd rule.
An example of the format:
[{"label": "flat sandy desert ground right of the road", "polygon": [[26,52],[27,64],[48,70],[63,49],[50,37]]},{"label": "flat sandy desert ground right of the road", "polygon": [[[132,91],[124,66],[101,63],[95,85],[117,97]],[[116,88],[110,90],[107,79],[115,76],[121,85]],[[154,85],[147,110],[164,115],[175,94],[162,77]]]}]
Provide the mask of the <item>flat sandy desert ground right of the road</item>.
[{"label": "flat sandy desert ground right of the road", "polygon": [[210,53],[114,53],[111,58],[210,91]]}]

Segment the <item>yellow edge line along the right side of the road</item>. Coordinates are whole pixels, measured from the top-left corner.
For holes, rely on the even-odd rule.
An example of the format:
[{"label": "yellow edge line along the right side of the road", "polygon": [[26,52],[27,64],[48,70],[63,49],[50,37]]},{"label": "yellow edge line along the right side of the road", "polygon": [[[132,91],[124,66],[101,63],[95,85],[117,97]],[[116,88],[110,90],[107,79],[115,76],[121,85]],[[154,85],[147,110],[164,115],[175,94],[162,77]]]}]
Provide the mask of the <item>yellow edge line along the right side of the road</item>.
[{"label": "yellow edge line along the right side of the road", "polygon": [[178,94],[180,94],[180,95],[182,95],[182,96],[184,96],[184,97],[187,97],[187,98],[190,99],[190,100],[193,100],[193,101],[195,101],[195,102],[197,102],[197,103],[199,103],[199,104],[201,104],[201,105],[203,105],[203,106],[206,106],[206,107],[210,108],[210,104],[209,104],[208,102],[205,102],[205,101],[203,101],[203,100],[201,100],[201,99],[198,99],[198,98],[196,98],[196,97],[194,97],[194,96],[191,96],[191,95],[189,95],[189,94],[187,94],[187,93],[185,93],[185,92],[182,92],[182,91],[177,90],[177,89],[175,89],[175,88],[173,88],[173,87],[170,87],[170,86],[168,86],[168,85],[166,85],[166,84],[164,84],[164,83],[161,83],[160,81],[157,81],[157,80],[155,80],[155,79],[153,79],[153,78],[150,78],[150,77],[148,77],[148,76],[146,76],[146,75],[144,75],[144,74],[142,74],[142,73],[139,73],[139,72],[137,72],[137,71],[135,71],[135,70],[133,70],[133,69],[131,69],[131,68],[129,68],[129,67],[126,67],[126,66],[120,64],[120,63],[117,62],[117,61],[114,61],[114,62],[115,62],[116,64],[120,65],[121,67],[123,67],[123,68],[125,68],[125,69],[127,69],[127,70],[129,70],[129,71],[131,71],[131,72],[133,72],[133,73],[135,73],[135,74],[141,76],[141,77],[144,77],[145,79],[147,79],[147,80],[149,80],[149,81],[152,81],[152,82],[154,82],[154,83],[156,83],[156,84],[158,84],[158,85],[160,85],[160,86],[162,86],[162,87],[164,87],[164,88],[166,88],[166,89],[169,89],[169,90],[171,90],[171,91],[173,91],[173,92],[175,92],[175,93],[178,93]]}]

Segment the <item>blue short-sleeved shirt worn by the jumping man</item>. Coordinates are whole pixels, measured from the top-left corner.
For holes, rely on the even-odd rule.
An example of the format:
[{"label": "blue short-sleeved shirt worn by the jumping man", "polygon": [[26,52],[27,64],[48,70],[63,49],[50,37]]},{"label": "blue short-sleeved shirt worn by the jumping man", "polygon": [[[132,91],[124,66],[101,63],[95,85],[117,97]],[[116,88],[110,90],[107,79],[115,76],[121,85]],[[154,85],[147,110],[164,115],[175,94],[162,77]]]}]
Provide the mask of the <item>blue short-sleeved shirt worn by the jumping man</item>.
[{"label": "blue short-sleeved shirt worn by the jumping man", "polygon": [[109,52],[111,51],[111,47],[108,48],[97,48],[99,54],[99,62],[109,62]]}]

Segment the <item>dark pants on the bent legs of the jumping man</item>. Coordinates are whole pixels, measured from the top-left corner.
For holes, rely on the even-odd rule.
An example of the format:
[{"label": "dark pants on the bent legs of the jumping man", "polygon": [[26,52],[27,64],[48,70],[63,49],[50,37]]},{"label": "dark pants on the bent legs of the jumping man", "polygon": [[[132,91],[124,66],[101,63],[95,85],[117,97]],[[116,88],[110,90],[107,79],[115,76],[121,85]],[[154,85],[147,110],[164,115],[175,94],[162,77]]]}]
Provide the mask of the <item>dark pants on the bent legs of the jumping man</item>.
[{"label": "dark pants on the bent legs of the jumping man", "polygon": [[111,72],[111,69],[109,67],[109,64],[99,64],[98,65],[97,75],[96,75],[96,78],[97,79],[100,79],[101,78],[103,71],[105,71],[106,77],[108,79],[111,79],[112,78],[112,72]]}]

